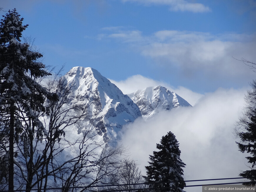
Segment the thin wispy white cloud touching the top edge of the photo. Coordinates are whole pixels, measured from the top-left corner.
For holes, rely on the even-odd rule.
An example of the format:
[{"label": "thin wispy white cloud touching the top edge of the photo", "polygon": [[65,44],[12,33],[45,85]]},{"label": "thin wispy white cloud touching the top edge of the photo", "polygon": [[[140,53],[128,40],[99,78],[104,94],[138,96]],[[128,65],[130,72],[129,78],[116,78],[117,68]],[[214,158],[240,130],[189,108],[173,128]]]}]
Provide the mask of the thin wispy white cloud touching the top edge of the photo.
[{"label": "thin wispy white cloud touching the top edge of the photo", "polygon": [[137,2],[144,5],[167,5],[170,11],[191,11],[194,13],[209,12],[211,9],[200,3],[189,3],[185,0],[122,0],[123,2]]}]

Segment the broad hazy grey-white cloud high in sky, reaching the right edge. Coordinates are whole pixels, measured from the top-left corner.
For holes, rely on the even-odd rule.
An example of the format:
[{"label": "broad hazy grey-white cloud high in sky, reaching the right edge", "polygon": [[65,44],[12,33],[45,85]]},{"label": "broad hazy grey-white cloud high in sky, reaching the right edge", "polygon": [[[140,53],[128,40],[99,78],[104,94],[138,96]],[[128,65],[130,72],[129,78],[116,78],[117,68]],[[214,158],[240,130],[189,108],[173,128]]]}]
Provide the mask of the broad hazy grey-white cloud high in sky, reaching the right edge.
[{"label": "broad hazy grey-white cloud high in sky, reaching the right edge", "polygon": [[[232,69],[236,63],[232,56],[256,59],[253,56],[256,48],[253,35],[231,33],[213,36],[192,31],[158,31],[154,36],[157,39],[145,44],[141,53],[152,58],[165,57],[184,69],[200,67],[211,73],[227,69],[223,71],[225,74],[232,71],[237,75],[241,68]],[[229,41],[226,40],[228,37]]]}]

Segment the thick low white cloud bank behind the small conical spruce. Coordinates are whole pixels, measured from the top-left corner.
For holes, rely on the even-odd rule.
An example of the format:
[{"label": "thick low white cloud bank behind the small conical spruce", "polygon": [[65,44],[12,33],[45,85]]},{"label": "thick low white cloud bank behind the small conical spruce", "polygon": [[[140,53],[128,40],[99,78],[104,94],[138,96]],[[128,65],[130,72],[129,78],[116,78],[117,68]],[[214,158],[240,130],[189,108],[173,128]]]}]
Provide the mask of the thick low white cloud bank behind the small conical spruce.
[{"label": "thick low white cloud bank behind the small conical spruce", "polygon": [[123,128],[122,142],[145,174],[144,166],[149,155],[157,150],[156,143],[172,131],[180,143],[181,159],[187,164],[185,180],[238,177],[240,171],[248,168],[245,165],[247,154],[238,151],[232,132],[242,115],[245,93],[246,89],[218,89],[206,94],[193,108],[159,113],[146,123],[138,119]]}]

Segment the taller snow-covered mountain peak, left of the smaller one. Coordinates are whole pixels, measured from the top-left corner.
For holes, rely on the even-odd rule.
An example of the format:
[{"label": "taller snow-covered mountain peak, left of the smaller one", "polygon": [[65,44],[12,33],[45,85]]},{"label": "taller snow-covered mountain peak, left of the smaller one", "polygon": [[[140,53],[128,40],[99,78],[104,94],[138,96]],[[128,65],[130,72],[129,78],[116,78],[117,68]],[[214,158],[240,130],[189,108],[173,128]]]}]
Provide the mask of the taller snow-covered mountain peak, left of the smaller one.
[{"label": "taller snow-covered mountain peak, left of the smaller one", "polygon": [[73,67],[64,78],[76,98],[92,103],[92,115],[98,114],[112,135],[141,116],[138,106],[96,69]]}]

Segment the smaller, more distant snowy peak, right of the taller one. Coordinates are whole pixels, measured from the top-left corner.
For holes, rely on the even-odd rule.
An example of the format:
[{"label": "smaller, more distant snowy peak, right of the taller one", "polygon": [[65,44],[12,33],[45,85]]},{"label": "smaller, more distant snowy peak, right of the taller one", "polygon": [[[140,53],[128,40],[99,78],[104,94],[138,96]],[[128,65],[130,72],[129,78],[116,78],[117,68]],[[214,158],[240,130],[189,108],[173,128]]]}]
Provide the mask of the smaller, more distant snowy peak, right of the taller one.
[{"label": "smaller, more distant snowy peak, right of the taller one", "polygon": [[128,96],[137,104],[141,114],[148,118],[159,110],[191,106],[186,100],[163,86],[147,87]]}]

